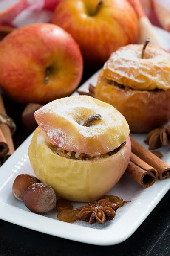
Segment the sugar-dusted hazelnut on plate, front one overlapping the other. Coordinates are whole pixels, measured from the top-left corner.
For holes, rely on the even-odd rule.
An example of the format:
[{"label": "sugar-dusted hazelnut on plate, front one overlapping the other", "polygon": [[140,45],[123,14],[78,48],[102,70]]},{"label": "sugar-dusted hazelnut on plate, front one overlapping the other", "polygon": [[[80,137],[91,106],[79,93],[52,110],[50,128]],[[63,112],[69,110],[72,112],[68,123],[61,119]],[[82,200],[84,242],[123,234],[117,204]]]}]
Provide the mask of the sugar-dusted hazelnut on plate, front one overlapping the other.
[{"label": "sugar-dusted hazelnut on plate, front one overlapping the other", "polygon": [[43,214],[55,207],[56,194],[54,189],[47,184],[33,184],[24,195],[24,203],[31,212]]}]

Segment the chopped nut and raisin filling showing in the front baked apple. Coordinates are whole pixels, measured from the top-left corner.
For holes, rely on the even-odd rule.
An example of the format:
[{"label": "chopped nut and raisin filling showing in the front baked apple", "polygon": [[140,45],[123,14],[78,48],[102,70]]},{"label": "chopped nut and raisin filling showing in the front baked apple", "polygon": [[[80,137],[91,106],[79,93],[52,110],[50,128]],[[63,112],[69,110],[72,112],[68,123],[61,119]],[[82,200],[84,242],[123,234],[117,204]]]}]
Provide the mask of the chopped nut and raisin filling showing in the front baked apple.
[{"label": "chopped nut and raisin filling showing in the front baked apple", "polygon": [[51,143],[47,143],[48,148],[50,148],[51,151],[53,151],[54,154],[57,154],[60,157],[65,157],[65,158],[68,158],[68,159],[83,160],[83,161],[85,161],[85,160],[86,161],[87,160],[95,161],[95,160],[99,160],[100,158],[110,157],[113,154],[116,154],[125,144],[126,144],[126,141],[124,143],[122,143],[118,148],[114,149],[113,151],[110,151],[106,154],[93,156],[91,154],[85,154],[85,153],[78,153],[78,152],[74,152],[74,151],[63,150],[63,149],[61,149],[57,146],[52,145]]}]

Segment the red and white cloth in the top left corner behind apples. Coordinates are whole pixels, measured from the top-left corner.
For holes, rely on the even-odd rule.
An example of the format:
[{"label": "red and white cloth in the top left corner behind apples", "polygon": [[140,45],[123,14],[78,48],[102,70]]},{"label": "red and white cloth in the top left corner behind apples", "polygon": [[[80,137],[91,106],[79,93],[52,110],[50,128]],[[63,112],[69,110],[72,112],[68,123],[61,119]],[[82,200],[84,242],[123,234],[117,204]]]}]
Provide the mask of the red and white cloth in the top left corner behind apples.
[{"label": "red and white cloth in the top left corner behind apples", "polygon": [[[61,0],[0,0],[0,25],[22,27],[50,22]],[[8,10],[8,11],[7,11]]]}]

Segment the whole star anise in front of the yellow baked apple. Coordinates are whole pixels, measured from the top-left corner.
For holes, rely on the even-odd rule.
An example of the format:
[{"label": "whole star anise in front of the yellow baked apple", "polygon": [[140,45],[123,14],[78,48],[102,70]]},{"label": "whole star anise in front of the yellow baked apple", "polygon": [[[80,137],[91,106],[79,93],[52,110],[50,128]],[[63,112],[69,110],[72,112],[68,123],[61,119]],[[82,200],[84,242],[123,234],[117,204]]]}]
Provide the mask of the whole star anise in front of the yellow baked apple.
[{"label": "whole star anise in front of the yellow baked apple", "polygon": [[94,224],[96,221],[103,224],[105,221],[113,220],[118,208],[119,203],[111,203],[109,202],[109,198],[101,199],[98,203],[91,201],[88,205],[77,208],[77,210],[80,211],[79,214],[77,214],[77,218],[89,222],[90,224]]}]

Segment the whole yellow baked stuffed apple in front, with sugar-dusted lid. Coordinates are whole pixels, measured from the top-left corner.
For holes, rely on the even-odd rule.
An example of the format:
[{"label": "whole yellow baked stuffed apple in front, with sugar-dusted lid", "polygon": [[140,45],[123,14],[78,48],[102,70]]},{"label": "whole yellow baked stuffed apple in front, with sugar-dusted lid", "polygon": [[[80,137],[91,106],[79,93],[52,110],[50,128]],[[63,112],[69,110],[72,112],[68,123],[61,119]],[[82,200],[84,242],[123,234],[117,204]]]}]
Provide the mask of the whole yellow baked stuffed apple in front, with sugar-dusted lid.
[{"label": "whole yellow baked stuffed apple in front, with sugar-dusted lid", "polygon": [[113,106],[90,96],[54,100],[34,114],[28,155],[35,174],[71,201],[105,195],[130,160],[129,125]]}]

